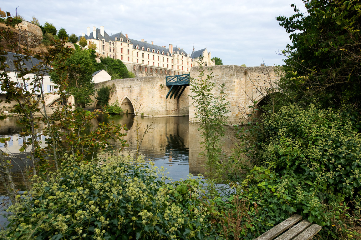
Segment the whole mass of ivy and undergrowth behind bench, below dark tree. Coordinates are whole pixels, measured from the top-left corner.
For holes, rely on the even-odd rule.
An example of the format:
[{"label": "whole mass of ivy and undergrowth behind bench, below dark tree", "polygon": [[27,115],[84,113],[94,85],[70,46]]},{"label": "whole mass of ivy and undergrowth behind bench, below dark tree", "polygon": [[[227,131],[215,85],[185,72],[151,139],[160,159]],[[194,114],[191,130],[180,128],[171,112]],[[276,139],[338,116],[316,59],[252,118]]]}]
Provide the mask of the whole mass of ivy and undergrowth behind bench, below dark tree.
[{"label": "whole mass of ivy and undergrowth behind bench, below dark tree", "polygon": [[242,199],[257,203],[271,225],[297,213],[323,226],[326,238],[356,236],[351,219],[360,209],[361,136],[355,116],[288,105],[265,115],[259,127],[258,151],[251,152],[259,167],[238,186]]}]

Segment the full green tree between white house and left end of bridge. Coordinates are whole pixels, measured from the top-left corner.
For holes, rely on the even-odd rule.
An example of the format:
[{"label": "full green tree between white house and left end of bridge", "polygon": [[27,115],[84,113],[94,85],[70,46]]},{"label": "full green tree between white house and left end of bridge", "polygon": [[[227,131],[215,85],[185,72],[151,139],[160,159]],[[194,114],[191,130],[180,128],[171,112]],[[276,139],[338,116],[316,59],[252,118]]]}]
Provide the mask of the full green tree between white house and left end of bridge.
[{"label": "full green tree between white house and left end of bridge", "polygon": [[[92,102],[94,65],[88,50],[75,50],[64,62],[55,62],[53,66],[55,71],[50,73],[52,80],[56,84],[61,84],[62,79],[69,80],[64,90],[74,95],[76,107],[84,107]],[[67,71],[60,73],[64,66]]]}]

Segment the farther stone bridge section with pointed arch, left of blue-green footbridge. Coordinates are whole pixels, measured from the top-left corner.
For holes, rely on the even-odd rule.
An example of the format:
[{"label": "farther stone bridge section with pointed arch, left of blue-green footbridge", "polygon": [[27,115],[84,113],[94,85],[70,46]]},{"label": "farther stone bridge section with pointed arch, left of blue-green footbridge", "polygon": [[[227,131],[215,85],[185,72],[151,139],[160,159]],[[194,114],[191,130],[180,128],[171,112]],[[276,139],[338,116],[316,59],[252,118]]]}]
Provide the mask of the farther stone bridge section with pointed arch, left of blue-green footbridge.
[{"label": "farther stone bridge section with pointed arch, left of blue-green footbridge", "polygon": [[[113,90],[109,105],[118,102],[125,112],[149,117],[184,116],[189,112],[189,87],[179,99],[166,99],[170,86],[165,86],[165,76],[104,81],[96,83],[95,89],[102,86],[109,86]],[[96,105],[95,100],[92,107]]]}]

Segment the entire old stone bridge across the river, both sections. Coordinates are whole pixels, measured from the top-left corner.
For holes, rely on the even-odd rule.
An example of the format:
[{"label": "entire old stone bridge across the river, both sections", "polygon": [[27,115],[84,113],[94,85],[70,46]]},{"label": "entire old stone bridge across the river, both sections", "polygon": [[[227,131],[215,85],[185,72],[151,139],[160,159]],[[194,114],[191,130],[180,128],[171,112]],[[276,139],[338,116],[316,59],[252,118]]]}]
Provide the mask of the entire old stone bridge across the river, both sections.
[{"label": "entire old stone bridge across the river, both sections", "polygon": [[[208,68],[204,67],[205,72]],[[229,124],[244,122],[251,111],[248,106],[252,106],[255,101],[261,102],[278,80],[274,67],[221,65],[213,66],[212,72],[212,81],[217,83],[216,86],[225,83],[226,100],[230,102]],[[199,67],[192,67],[190,77],[198,76]],[[189,120],[195,121],[193,102],[189,97],[191,86],[178,88],[178,95],[175,94],[177,97],[169,98],[167,94],[171,86],[166,86],[165,76],[117,79],[95,84],[96,89],[101,86],[113,89],[109,105],[117,102],[126,112],[151,117],[189,115]],[[96,101],[92,107],[96,107]]]}]

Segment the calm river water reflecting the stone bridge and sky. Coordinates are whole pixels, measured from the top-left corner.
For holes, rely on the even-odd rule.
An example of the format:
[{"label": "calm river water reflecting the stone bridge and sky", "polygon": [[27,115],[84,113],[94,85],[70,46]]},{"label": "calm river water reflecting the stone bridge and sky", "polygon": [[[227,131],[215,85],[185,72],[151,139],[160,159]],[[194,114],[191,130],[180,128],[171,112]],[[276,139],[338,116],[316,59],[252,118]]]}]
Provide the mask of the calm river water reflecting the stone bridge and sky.
[{"label": "calm river water reflecting the stone bridge and sky", "polygon": [[[129,143],[129,147],[123,150],[123,154],[135,154],[137,151],[136,141],[136,127],[137,123],[134,120],[134,115],[123,114],[113,115],[112,119],[105,119],[102,115],[93,119],[93,129],[99,123],[107,123],[114,121],[116,124],[126,125],[129,130],[124,137]],[[174,180],[186,178],[189,173],[198,174],[204,173],[204,159],[199,156],[200,153],[200,133],[197,130],[198,124],[189,123],[188,116],[184,117],[138,117],[138,125],[140,127],[140,135],[143,135],[144,128],[151,125],[151,133],[145,134],[140,154],[146,160],[151,160],[156,166],[164,166],[168,168],[169,177]],[[23,140],[19,139],[19,131],[22,126],[16,123],[16,117],[8,117],[4,121],[0,121],[0,137],[12,137],[15,141],[9,142],[6,151],[14,153],[20,157],[19,148]],[[231,149],[230,137],[232,131],[227,131],[224,139],[224,146],[226,151]],[[45,136],[41,136],[44,140]],[[44,142],[44,141],[43,141]],[[12,145],[12,146],[10,146]],[[113,143],[117,147],[117,143]],[[0,146],[4,150],[4,146]]]}]

